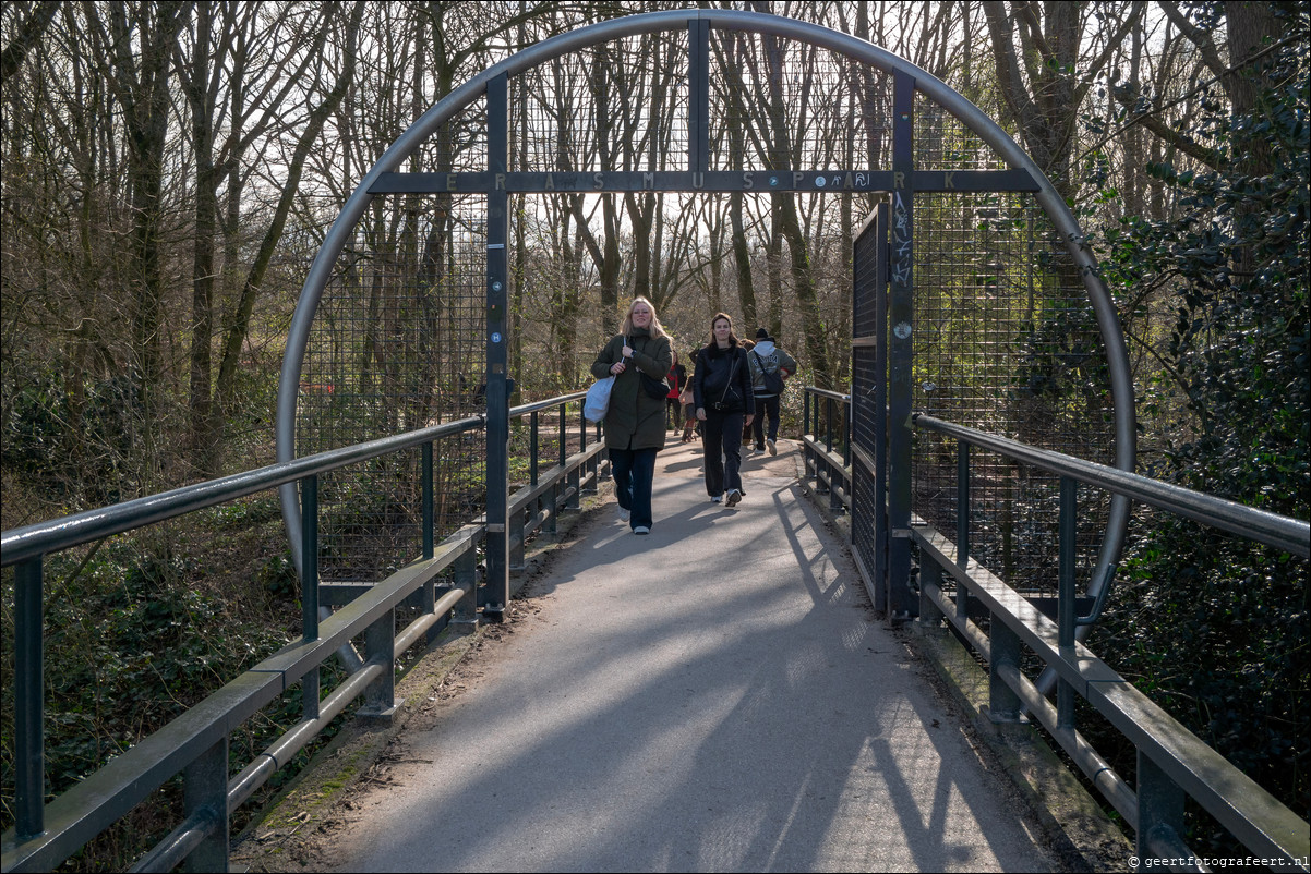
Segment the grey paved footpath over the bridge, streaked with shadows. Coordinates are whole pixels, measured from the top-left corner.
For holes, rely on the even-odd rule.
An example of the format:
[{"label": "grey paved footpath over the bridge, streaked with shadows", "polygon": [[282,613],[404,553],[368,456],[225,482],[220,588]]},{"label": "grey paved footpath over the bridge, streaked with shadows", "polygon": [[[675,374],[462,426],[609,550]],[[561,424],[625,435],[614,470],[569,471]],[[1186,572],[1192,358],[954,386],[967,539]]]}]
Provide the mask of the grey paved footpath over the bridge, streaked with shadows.
[{"label": "grey paved footpath over the bridge, streaked with shadows", "polygon": [[873,616],[794,444],[746,461],[734,510],[708,501],[699,468],[690,446],[661,453],[650,536],[612,501],[593,511],[448,680],[456,693],[431,696],[284,862],[1059,870],[928,666]]}]

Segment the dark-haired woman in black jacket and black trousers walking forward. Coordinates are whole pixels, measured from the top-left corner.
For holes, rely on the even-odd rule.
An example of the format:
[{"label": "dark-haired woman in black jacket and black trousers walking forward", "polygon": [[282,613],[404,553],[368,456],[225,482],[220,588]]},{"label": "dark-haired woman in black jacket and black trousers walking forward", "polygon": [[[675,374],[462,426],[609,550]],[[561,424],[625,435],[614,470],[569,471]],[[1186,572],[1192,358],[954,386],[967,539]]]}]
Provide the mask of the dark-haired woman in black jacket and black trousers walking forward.
[{"label": "dark-haired woman in black jacket and black trousers walking forward", "polygon": [[716,313],[711,342],[696,356],[692,394],[701,423],[705,491],[729,507],[742,501],[742,427],[755,414],[750,371],[733,320]]}]

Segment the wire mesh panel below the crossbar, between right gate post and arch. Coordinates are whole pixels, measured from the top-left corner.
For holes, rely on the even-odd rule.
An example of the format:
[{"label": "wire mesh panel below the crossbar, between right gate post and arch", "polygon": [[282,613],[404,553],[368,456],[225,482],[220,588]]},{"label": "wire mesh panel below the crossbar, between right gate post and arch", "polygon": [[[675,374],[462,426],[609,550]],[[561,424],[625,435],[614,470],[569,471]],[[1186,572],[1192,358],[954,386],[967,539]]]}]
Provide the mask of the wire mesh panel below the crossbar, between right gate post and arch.
[{"label": "wire mesh panel below the crossbar, between right gate post and arch", "polygon": [[[1105,350],[1041,207],[1027,195],[923,195],[915,236],[915,409],[1110,463]],[[915,510],[950,535],[954,442],[916,430],[914,452]],[[975,452],[971,487],[970,554],[1017,588],[1054,592],[1058,478]],[[1087,583],[1109,499],[1079,497]]]}]

